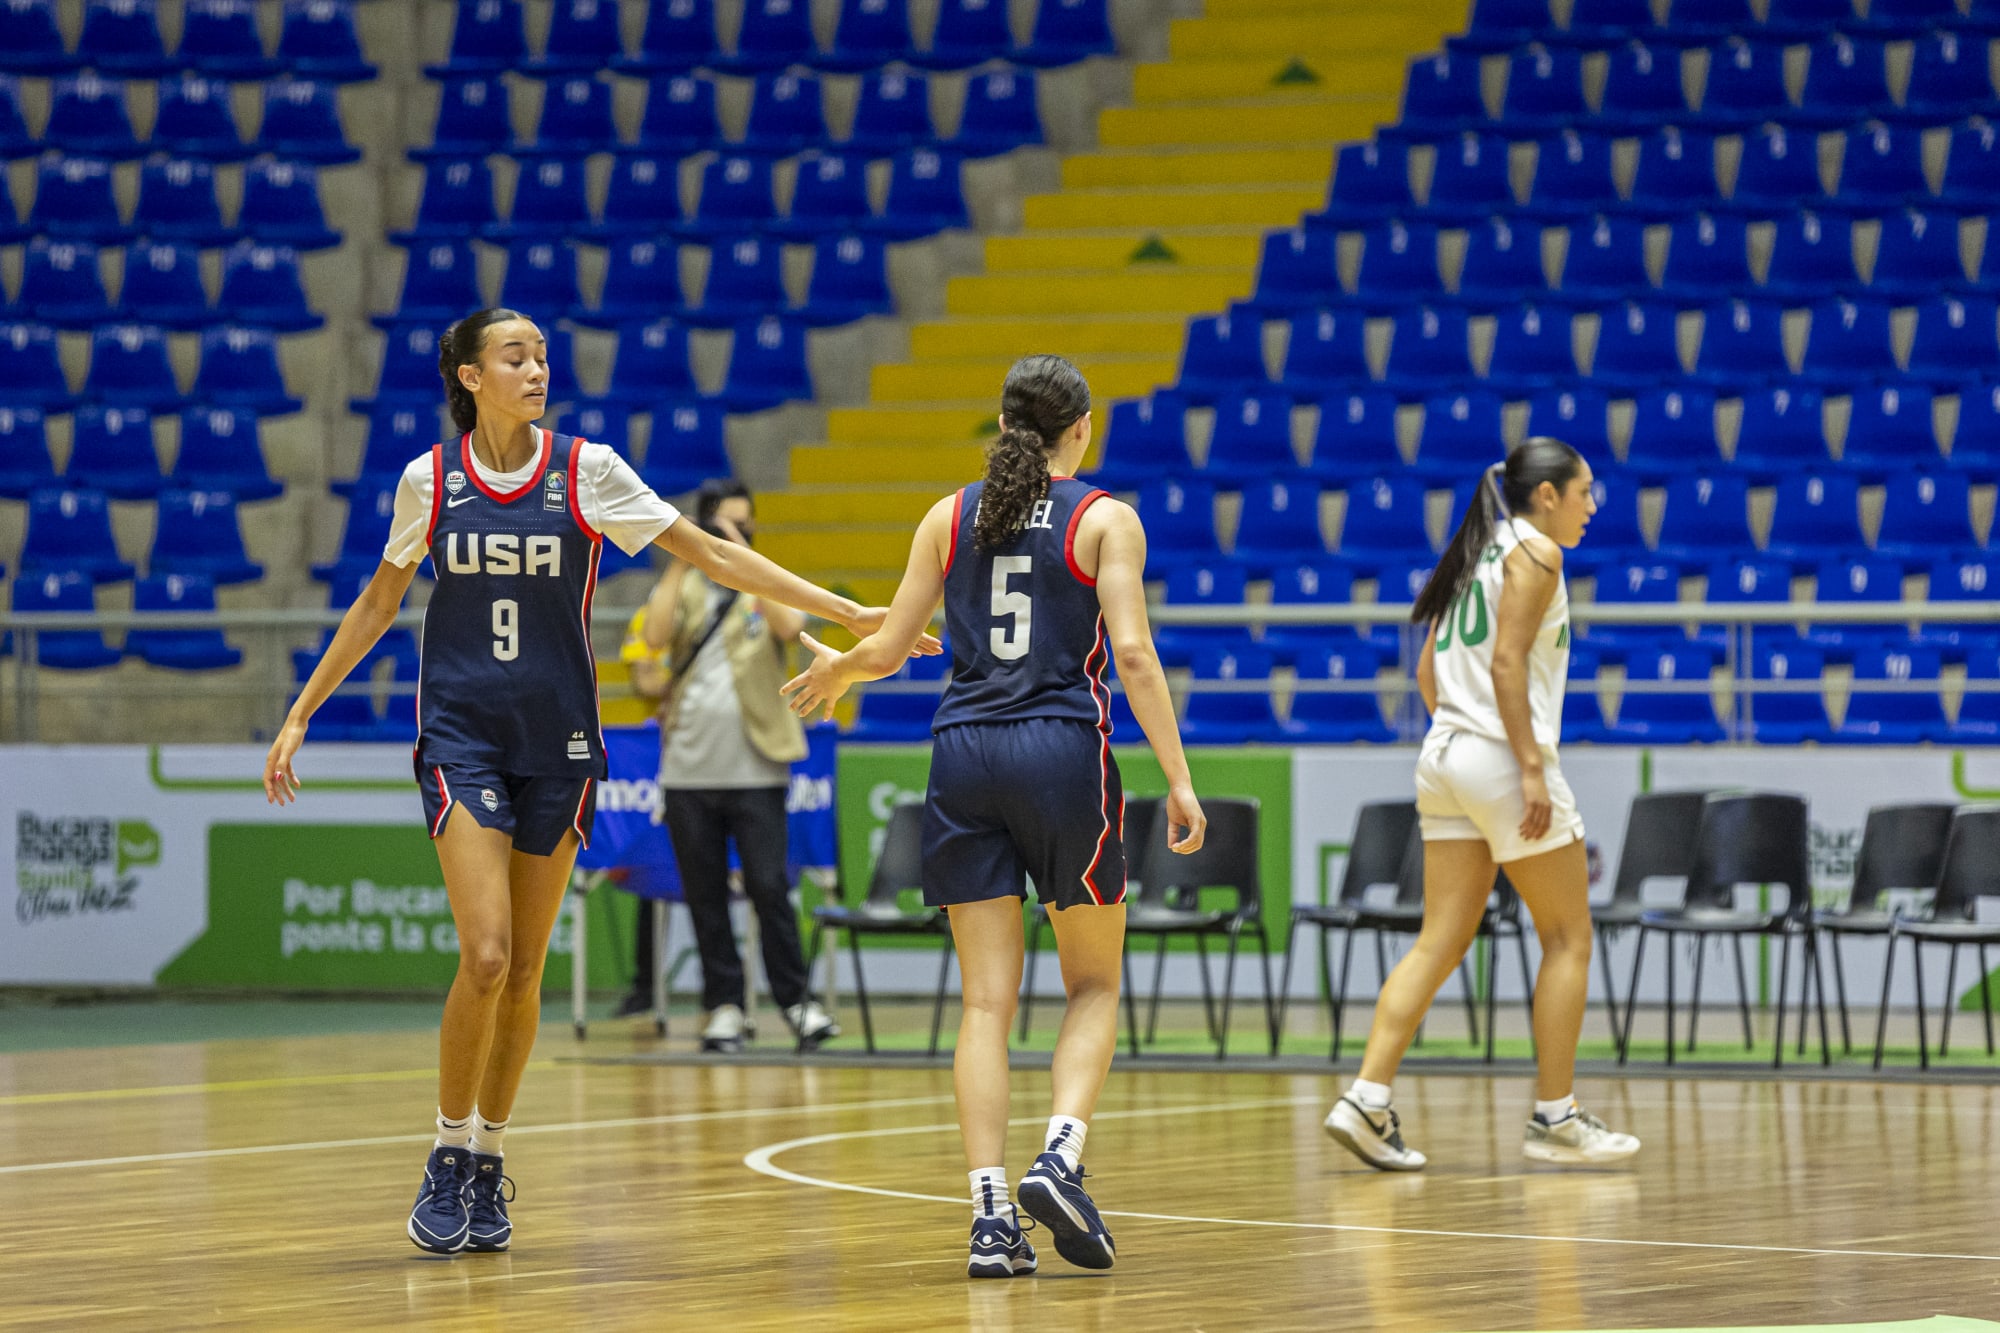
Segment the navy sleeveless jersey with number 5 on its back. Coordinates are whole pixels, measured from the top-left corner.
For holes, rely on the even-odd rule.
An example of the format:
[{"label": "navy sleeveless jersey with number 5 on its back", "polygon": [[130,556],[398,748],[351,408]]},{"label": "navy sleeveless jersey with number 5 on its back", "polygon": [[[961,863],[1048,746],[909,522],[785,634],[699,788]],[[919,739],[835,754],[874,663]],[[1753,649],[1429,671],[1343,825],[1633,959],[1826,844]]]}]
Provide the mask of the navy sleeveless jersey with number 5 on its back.
[{"label": "navy sleeveless jersey with number 5 on its back", "polygon": [[1020,536],[980,550],[972,522],[984,488],[986,482],[974,482],[952,504],[944,566],[952,679],[932,731],[1052,717],[1110,733],[1104,685],[1110,646],[1098,584],[1084,576],[1074,554],[1076,524],[1106,492],[1058,476]]}]

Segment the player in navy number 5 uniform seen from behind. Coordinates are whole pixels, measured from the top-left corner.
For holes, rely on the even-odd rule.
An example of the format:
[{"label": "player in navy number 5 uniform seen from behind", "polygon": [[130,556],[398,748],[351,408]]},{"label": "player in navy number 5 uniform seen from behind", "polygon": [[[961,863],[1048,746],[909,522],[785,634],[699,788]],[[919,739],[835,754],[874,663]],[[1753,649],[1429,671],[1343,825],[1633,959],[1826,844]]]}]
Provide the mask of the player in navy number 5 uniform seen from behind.
[{"label": "player in navy number 5 uniform seen from behind", "polygon": [[1078,1165],[1118,1043],[1126,867],[1104,681],[1112,656],[1166,773],[1172,849],[1198,851],[1208,825],[1146,622],[1146,532],[1130,506],[1072,476],[1088,448],[1084,376],[1060,356],[1018,360],[986,478],[918,524],[888,620],[850,652],[802,636],[814,662],[784,687],[800,715],[830,711],[852,683],[896,671],[944,600],[952,679],[932,723],[924,901],[948,911],[964,975],[952,1069],[972,1177],[972,1277],[1036,1265],[1004,1167],[1028,877],[1056,927],[1068,1011],[1046,1151],[1020,1183],[1020,1205],[1070,1263],[1108,1269],[1114,1259]]}]

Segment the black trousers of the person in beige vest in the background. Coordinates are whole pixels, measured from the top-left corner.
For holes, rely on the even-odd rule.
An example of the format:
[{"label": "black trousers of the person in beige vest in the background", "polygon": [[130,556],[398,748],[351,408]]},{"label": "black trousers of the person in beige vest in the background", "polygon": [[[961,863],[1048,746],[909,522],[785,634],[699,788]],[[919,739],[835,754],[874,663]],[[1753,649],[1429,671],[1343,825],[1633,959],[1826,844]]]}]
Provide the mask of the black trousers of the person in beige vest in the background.
[{"label": "black trousers of the person in beige vest in the background", "polygon": [[784,787],[662,791],[660,817],[702,953],[702,1009],[744,1003],[744,965],[730,927],[730,843],[764,943],[764,975],[780,1009],[804,1003],[806,957],[786,883]]}]

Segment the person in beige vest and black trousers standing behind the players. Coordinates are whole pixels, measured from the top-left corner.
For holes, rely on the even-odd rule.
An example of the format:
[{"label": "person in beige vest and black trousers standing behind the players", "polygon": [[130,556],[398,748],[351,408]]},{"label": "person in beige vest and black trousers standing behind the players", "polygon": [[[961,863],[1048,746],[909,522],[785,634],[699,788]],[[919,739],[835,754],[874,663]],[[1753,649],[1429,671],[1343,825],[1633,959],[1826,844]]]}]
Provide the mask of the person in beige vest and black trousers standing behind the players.
[{"label": "person in beige vest and black trousers standing behind the players", "polygon": [[[736,480],[704,482],[694,520],[750,546],[756,508]],[[812,999],[792,909],[784,799],[792,763],[806,757],[804,727],[778,697],[784,648],[806,618],[790,606],[740,596],[676,560],[644,610],[646,648],[666,652],[660,703],[660,817],[674,841],[682,893],[702,955],[704,1051],[742,1051],[744,967],[730,925],[730,843],[758,917],[764,975],[800,1045],[840,1027]],[[648,941],[650,945],[650,941]],[[656,963],[654,963],[656,965]],[[650,989],[650,971],[636,983]]]}]

